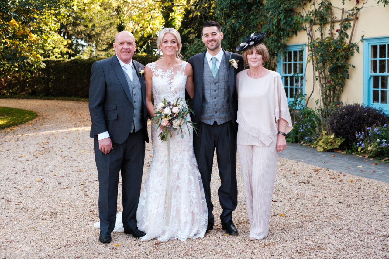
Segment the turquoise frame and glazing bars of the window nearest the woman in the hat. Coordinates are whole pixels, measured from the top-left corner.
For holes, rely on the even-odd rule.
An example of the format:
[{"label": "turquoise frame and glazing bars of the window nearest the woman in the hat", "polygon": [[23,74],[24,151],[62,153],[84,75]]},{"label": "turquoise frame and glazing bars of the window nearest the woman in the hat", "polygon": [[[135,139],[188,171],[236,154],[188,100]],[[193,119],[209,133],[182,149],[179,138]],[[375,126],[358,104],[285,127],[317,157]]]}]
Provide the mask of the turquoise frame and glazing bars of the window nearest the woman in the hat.
[{"label": "turquoise frame and glazing bars of the window nearest the woman in the hat", "polygon": [[[295,89],[298,89],[298,86],[291,86],[290,85],[291,79],[293,79],[294,84],[296,83],[296,79],[300,80],[300,81],[298,81],[299,84],[301,84],[301,81],[302,81],[301,91],[303,94],[305,93],[305,66],[306,66],[305,45],[306,44],[286,45],[284,48],[285,54],[286,54],[285,59],[284,59],[283,55],[281,55],[281,54],[278,55],[277,72],[281,75],[282,84],[284,85],[288,102],[294,100],[293,97],[290,97],[291,91],[294,92]],[[296,51],[302,52],[302,54],[303,54],[302,61],[300,61],[299,59],[297,59],[297,61],[294,61],[294,56],[295,56],[294,54],[296,54]],[[288,54],[289,52],[291,52],[291,55]],[[299,53],[297,55],[299,55]],[[289,60],[290,58],[291,58],[291,60]],[[297,58],[299,58],[299,56],[297,56]],[[297,64],[297,69],[300,71],[294,71],[296,68],[295,64]],[[300,69],[300,65],[302,66],[302,70]],[[290,70],[292,70],[292,71],[290,71]],[[297,73],[297,78],[296,78],[295,72],[301,72],[301,73]],[[291,88],[293,88],[293,89],[291,89]],[[302,100],[301,104],[305,106],[305,100]],[[296,108],[301,108],[301,107],[296,107]]]}]

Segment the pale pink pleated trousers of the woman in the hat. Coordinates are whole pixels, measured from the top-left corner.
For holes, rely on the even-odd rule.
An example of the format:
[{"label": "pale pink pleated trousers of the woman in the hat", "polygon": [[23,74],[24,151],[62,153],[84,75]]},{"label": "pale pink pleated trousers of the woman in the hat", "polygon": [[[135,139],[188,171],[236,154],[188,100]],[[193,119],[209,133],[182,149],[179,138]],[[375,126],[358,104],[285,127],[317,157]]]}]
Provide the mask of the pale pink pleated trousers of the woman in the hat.
[{"label": "pale pink pleated trousers of the woman in the hat", "polygon": [[277,147],[237,145],[237,149],[251,225],[250,236],[263,239],[269,230]]}]

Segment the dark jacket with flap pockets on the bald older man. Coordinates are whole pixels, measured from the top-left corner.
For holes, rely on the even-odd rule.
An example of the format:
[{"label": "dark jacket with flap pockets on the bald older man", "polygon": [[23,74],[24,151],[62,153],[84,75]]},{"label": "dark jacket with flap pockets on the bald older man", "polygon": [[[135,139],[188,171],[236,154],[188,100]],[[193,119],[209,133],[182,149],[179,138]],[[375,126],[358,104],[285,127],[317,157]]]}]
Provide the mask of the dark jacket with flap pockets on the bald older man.
[{"label": "dark jacket with flap pockets on the bald older man", "polygon": [[[142,87],[144,126],[141,130],[148,143],[145,82],[139,73],[139,69],[143,70],[144,65],[135,60],[131,62]],[[127,139],[133,123],[134,105],[123,68],[116,55],[92,65],[89,112],[92,120],[91,138],[97,138],[97,134],[108,131],[113,143],[121,144]]]}]

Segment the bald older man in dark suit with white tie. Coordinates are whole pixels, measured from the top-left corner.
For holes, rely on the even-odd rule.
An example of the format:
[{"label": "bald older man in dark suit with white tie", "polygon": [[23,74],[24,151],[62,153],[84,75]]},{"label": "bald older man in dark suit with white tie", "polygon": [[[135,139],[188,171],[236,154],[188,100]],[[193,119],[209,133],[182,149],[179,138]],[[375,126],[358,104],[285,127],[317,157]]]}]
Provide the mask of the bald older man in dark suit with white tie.
[{"label": "bald older man in dark suit with white tie", "polygon": [[91,134],[98,171],[101,243],[111,242],[116,222],[119,171],[122,178],[124,234],[145,235],[137,227],[136,212],[142,184],[147,112],[144,66],[132,56],[137,48],[130,32],[115,36],[116,55],[92,65],[89,87]]}]

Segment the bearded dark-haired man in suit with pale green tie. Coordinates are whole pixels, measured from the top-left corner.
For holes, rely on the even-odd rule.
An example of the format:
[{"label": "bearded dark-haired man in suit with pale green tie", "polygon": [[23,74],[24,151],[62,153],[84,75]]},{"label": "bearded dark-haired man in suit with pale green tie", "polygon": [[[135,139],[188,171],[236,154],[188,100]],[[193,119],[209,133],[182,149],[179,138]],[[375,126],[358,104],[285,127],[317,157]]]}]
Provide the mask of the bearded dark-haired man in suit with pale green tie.
[{"label": "bearded dark-haired man in suit with pale green tie", "polygon": [[[221,179],[219,200],[222,229],[237,235],[232,212],[237,207],[237,110],[236,75],[244,69],[242,56],[225,51],[220,43],[223,32],[219,23],[208,21],[202,28],[202,39],[207,47],[204,53],[188,59],[194,73],[194,96],[190,107],[195,114],[198,134],[193,135],[193,148],[202,177],[208,207],[208,228],[214,228],[213,204],[210,200],[211,173],[216,149],[217,166]],[[238,62],[233,67],[232,59]]]}]

